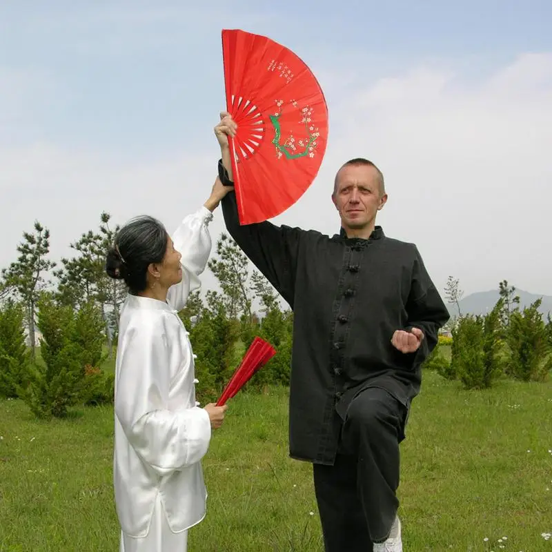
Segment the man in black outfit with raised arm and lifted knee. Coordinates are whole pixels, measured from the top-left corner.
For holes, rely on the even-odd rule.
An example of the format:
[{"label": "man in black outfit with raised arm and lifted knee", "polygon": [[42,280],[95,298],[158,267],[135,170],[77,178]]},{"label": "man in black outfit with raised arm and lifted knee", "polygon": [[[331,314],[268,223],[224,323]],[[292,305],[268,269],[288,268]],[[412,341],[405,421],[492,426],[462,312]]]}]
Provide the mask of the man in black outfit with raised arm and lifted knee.
[{"label": "man in black outfit with raised arm and lifted knee", "polygon": [[[222,112],[215,135],[226,186],[235,130]],[[268,221],[240,226],[234,192],[222,210],[235,242],[293,309],[290,457],[313,462],[326,552],[372,544],[402,552],[399,444],[420,365],[449,312],[416,246],[375,226],[387,195],[371,161],[344,164],[332,199],[341,218],[333,237]]]}]

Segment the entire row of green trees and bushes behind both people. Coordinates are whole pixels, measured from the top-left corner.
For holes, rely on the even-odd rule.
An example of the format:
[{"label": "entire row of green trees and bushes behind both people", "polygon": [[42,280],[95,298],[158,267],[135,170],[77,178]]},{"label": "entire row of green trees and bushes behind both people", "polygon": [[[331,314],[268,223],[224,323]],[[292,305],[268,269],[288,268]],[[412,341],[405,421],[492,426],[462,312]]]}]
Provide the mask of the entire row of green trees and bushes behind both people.
[{"label": "entire row of green trees and bushes behind both people", "polygon": [[[106,253],[119,226],[101,213],[99,228],[70,244],[72,257],[54,262],[50,233],[38,221],[23,233],[17,259],[0,278],[0,396],[19,397],[37,417],[63,417],[75,404],[111,403],[119,311],[126,297],[106,275]],[[233,239],[221,234],[208,262],[219,290],[192,293],[179,313],[197,355],[198,400],[217,399],[255,335],[277,349],[249,387],[289,384],[293,313]],[[445,296],[459,315],[452,339],[440,339],[424,368],[464,388],[486,388],[498,377],[543,381],[552,368],[552,320],[540,301],[520,309],[515,288],[504,280],[500,299],[486,315],[464,315],[458,279]],[[38,329],[39,339],[35,336]],[[37,344],[37,346],[32,346]],[[450,346],[450,355],[444,354]]]}]

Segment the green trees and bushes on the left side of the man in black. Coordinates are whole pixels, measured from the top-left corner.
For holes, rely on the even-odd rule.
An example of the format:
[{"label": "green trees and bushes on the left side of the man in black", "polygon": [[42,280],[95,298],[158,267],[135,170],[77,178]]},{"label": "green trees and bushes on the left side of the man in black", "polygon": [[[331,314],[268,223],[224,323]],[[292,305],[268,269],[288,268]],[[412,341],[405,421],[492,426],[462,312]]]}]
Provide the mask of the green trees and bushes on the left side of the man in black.
[{"label": "green trees and bushes on the left side of the man in black", "polygon": [[[71,243],[72,257],[59,263],[49,258],[50,233],[37,221],[23,233],[17,259],[1,271],[0,396],[21,398],[37,417],[113,400],[126,288],[104,268],[119,230],[110,220],[101,213],[99,228]],[[198,400],[216,400],[256,335],[278,354],[248,386],[288,385],[293,313],[281,308],[275,289],[224,233],[208,270],[219,290],[192,293],[179,313],[197,355]]]}]

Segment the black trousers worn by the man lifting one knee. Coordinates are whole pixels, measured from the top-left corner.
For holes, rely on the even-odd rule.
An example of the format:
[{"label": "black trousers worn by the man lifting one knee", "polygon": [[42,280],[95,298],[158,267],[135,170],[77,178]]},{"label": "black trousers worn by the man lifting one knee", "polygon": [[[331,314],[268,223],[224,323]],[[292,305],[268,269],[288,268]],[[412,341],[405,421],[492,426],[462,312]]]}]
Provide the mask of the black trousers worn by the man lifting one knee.
[{"label": "black trousers worn by the man lifting one knee", "polygon": [[326,552],[367,552],[388,538],[399,501],[399,444],[408,411],[380,388],[348,408],[333,466],[314,464]]}]

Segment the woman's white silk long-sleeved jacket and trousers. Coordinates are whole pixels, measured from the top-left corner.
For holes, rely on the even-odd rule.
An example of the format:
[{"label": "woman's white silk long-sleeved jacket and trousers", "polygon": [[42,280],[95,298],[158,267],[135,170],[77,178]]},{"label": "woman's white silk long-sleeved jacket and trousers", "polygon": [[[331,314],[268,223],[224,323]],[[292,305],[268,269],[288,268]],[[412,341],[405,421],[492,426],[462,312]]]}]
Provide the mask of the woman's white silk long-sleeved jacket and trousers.
[{"label": "woman's white silk long-sleeved jacket and trousers", "polygon": [[205,207],[172,237],[182,281],[167,302],[128,295],[115,366],[115,504],[120,552],[185,552],[206,513],[201,458],[211,428],[195,400],[194,355],[177,312],[200,287],[213,214]]}]

